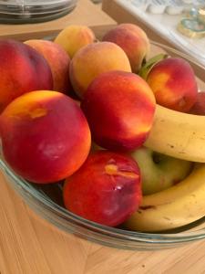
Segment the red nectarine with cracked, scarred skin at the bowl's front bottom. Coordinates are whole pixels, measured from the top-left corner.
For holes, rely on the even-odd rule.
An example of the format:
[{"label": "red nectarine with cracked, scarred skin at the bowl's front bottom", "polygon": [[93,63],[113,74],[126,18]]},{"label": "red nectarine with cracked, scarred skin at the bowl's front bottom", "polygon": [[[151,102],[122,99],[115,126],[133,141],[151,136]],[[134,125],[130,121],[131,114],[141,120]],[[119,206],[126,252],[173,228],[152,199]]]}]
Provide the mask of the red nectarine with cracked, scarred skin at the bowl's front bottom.
[{"label": "red nectarine with cracked, scarred skin at the bowl's front bottom", "polygon": [[67,178],[63,197],[67,209],[78,216],[118,226],[141,202],[138,164],[123,154],[90,154],[77,173]]}]

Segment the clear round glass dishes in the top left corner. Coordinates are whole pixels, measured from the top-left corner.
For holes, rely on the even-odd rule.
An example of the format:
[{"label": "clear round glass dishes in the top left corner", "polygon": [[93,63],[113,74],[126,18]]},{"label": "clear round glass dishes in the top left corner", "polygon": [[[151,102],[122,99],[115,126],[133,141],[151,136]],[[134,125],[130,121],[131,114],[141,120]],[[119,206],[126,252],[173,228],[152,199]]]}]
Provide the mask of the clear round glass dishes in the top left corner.
[{"label": "clear round glass dishes in the top left corner", "polygon": [[77,0],[0,1],[0,23],[37,23],[56,19],[71,12]]}]

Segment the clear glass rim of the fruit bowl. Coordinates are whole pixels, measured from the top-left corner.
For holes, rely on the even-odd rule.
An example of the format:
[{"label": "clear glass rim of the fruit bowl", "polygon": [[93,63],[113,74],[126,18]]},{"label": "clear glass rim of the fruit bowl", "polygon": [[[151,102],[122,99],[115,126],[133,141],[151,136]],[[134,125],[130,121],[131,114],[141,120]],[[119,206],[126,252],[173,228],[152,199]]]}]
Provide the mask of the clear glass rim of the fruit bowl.
[{"label": "clear glass rim of the fruit bowl", "polygon": [[[179,50],[160,44],[158,42],[150,40],[150,43],[154,46],[162,47],[168,49],[170,52],[179,55],[179,57],[186,58],[190,60],[192,63],[196,64],[198,67],[203,68],[196,60],[187,56],[180,52]],[[203,68],[204,69],[204,68]],[[60,217],[63,221],[67,222],[67,227],[69,223],[75,223],[77,227],[84,227],[90,232],[94,232],[99,237],[100,236],[108,236],[114,237],[115,240],[125,240],[127,242],[133,241],[137,243],[145,243],[145,244],[160,244],[160,245],[174,245],[177,243],[190,242],[197,239],[201,239],[205,237],[205,227],[199,228],[199,230],[188,231],[188,232],[179,232],[179,233],[147,233],[147,232],[138,232],[138,231],[130,231],[120,229],[118,227],[107,227],[103,225],[99,225],[95,222],[89,221],[81,216],[77,216],[72,212],[68,211],[66,208],[57,205],[54,201],[48,198],[48,196],[43,195],[33,186],[32,183],[29,183],[21,176],[15,174],[15,172],[9,167],[3,156],[0,155],[0,169],[3,171],[5,175],[8,175],[13,182],[18,186],[18,188],[23,189],[28,195],[36,200],[39,205],[43,205],[47,210],[51,210],[56,216]],[[17,191],[20,194],[20,191]],[[60,227],[61,228],[61,227]],[[77,234],[77,233],[76,233]],[[88,239],[90,237],[87,236]],[[98,241],[99,242],[99,241]],[[104,244],[107,244],[103,241]],[[138,247],[136,245],[136,248]],[[118,247],[118,243],[116,245]]]}]

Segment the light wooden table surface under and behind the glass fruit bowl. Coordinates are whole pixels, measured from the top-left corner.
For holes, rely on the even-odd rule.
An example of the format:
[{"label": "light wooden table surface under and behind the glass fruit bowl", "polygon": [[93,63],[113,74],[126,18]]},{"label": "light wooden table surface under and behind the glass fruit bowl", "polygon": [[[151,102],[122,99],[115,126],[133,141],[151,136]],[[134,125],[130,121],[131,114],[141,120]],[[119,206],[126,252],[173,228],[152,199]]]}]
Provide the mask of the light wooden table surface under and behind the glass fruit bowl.
[{"label": "light wooden table surface under and behind the glass fruit bowl", "polygon": [[[114,21],[88,0],[79,1],[70,15],[42,26],[67,24],[106,25]],[[1,37],[12,37],[35,26],[0,26]],[[32,32],[32,29],[34,32]],[[126,251],[102,247],[66,235],[36,216],[15,195],[0,173],[0,273],[1,274],[193,274],[205,273],[205,240],[160,251]]]}]

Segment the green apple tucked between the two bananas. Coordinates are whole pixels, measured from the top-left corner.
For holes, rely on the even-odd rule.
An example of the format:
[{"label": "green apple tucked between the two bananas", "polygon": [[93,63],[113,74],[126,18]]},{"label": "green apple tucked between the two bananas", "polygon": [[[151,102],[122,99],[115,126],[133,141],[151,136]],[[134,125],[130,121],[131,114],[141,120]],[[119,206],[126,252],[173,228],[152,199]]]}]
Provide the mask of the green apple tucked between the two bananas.
[{"label": "green apple tucked between the two bananas", "polygon": [[142,176],[143,195],[150,195],[178,184],[190,174],[192,163],[141,147],[131,153]]}]

